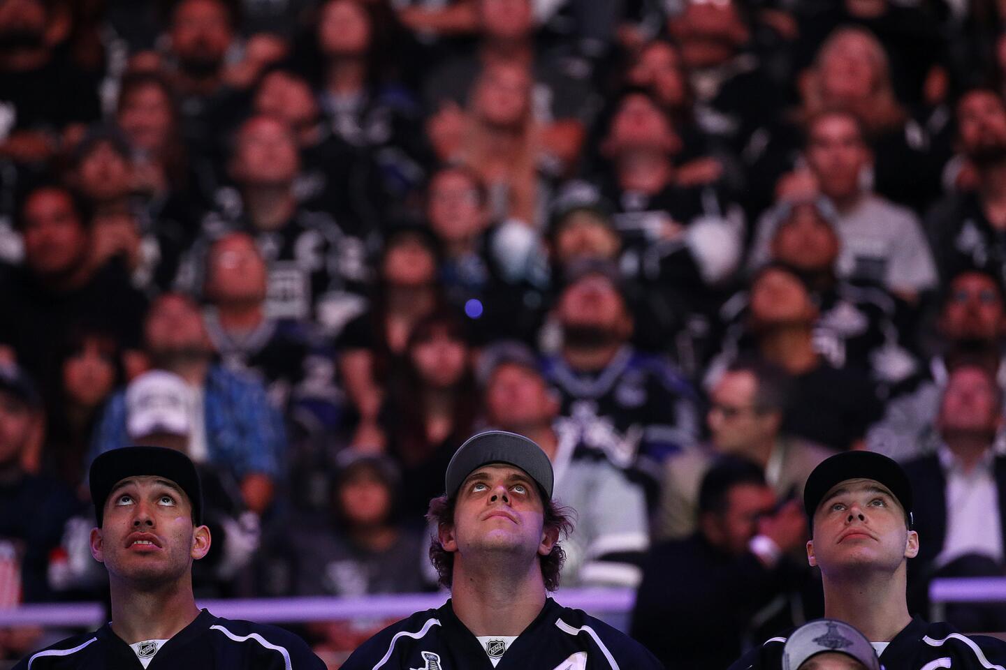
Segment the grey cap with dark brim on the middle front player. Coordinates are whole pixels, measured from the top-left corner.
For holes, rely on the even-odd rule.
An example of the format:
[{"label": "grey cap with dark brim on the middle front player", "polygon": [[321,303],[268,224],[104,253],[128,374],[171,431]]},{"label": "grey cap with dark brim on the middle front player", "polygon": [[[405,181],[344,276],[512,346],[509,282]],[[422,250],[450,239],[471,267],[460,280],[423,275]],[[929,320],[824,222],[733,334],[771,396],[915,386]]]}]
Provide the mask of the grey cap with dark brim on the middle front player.
[{"label": "grey cap with dark brim on the middle front player", "polygon": [[554,475],[548,456],[523,435],[503,430],[473,435],[455,452],[444,477],[448,497],[453,498],[458,493],[468,475],[490,463],[507,463],[520,468],[541,488],[545,498],[551,500]]}]

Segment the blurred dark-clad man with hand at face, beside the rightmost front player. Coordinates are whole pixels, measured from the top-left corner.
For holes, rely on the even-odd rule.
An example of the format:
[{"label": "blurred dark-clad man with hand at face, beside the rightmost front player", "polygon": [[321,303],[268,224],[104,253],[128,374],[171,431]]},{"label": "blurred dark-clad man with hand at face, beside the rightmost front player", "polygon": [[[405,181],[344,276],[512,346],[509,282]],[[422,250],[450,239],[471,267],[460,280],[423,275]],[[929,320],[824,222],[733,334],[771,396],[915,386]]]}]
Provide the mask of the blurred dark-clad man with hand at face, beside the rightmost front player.
[{"label": "blurred dark-clad man with hand at face, beside the rightmost front player", "polygon": [[701,482],[694,534],[653,547],[633,610],[632,636],[669,667],[726,667],[745,640],[786,620],[780,596],[801,582],[785,555],[807,539],[799,504],[777,507],[761,467],[739,457]]}]

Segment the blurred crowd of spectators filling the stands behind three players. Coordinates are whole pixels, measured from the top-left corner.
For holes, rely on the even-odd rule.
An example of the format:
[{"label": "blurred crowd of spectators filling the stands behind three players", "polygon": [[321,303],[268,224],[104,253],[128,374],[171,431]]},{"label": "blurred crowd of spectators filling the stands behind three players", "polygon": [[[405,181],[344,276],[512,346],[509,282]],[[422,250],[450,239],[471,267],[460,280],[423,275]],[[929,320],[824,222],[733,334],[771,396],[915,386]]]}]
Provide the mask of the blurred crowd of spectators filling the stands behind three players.
[{"label": "blurred crowd of spectators filling the stands behind three players", "polygon": [[1004,93],[1002,0],[2,0],[0,607],[105,596],[130,444],[199,464],[197,596],[435,590],[485,427],[669,667],[820,614],[835,451],[906,463],[915,611],[1004,575]]}]

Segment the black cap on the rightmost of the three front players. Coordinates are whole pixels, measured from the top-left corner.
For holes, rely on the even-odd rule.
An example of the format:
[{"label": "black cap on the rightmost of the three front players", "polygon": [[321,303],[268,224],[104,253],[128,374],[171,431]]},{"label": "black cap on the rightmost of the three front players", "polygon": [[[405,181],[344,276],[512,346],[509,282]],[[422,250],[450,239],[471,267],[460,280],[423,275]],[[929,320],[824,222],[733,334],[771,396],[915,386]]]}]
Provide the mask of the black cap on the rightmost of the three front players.
[{"label": "black cap on the rightmost of the three front players", "polygon": [[836,454],[824,459],[814,468],[804,487],[804,510],[810,517],[812,525],[814,512],[817,511],[824,496],[835,484],[846,479],[872,479],[886,486],[904,509],[908,527],[913,525],[911,483],[908,481],[908,476],[896,461],[873,451],[847,451]]}]

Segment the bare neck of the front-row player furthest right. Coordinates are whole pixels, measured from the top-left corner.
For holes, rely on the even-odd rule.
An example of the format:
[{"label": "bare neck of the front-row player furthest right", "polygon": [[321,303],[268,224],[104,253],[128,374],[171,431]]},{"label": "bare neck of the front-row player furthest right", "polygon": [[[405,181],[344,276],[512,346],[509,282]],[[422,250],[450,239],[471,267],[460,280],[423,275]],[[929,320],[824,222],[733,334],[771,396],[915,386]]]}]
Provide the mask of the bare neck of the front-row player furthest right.
[{"label": "bare neck of the front-row player furthest right", "polygon": [[871,575],[860,569],[847,579],[824,578],[824,616],[858,628],[870,642],[890,642],[911,622],[905,601],[905,566],[894,574]]}]

